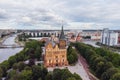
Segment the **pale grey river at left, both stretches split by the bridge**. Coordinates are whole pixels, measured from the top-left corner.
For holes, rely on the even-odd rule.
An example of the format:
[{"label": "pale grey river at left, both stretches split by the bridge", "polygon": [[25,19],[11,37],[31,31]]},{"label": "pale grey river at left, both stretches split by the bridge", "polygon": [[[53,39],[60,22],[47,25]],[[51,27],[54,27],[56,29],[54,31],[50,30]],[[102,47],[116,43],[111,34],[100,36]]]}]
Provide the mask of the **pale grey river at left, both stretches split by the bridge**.
[{"label": "pale grey river at left, both stretches split by the bridge", "polygon": [[[8,37],[2,44],[13,45],[15,43],[16,34]],[[0,48],[0,63],[7,60],[10,56],[20,52],[23,48]]]}]

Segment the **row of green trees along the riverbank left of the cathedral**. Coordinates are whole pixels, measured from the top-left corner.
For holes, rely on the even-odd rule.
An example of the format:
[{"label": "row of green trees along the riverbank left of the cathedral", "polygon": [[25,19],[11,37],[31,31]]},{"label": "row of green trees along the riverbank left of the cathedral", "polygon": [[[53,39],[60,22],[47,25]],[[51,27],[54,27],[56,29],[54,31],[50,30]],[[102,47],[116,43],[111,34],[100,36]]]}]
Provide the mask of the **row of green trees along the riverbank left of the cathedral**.
[{"label": "row of green trees along the riverbank left of the cathedral", "polygon": [[[16,68],[20,66],[19,62],[24,62],[25,60],[29,60],[29,66],[35,64],[35,59],[40,60],[42,54],[42,46],[44,43],[32,40],[27,42],[25,48],[17,53],[14,56],[11,56],[8,60],[2,62],[0,64],[0,78],[7,76],[7,71],[11,68]],[[20,63],[21,64],[21,63]]]}]

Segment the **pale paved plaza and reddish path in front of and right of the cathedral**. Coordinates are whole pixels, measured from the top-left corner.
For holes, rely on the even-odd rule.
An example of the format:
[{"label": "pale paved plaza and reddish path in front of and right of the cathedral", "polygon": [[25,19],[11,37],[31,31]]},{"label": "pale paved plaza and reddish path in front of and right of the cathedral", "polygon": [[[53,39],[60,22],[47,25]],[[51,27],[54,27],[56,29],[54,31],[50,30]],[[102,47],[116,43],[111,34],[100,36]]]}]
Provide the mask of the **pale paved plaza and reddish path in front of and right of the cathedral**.
[{"label": "pale paved plaza and reddish path in front of and right of the cathedral", "polygon": [[64,67],[50,67],[48,71],[53,71],[55,68],[68,68],[71,73],[77,73],[83,80],[99,80],[89,71],[89,66],[86,60],[78,55],[78,63],[75,66],[64,66]]}]

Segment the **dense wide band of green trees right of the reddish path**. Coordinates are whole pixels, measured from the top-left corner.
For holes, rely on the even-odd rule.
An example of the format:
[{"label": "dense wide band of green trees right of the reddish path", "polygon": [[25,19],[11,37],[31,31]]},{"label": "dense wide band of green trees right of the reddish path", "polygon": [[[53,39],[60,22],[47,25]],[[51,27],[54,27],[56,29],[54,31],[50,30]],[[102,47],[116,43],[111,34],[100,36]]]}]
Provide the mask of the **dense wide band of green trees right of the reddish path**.
[{"label": "dense wide band of green trees right of the reddish path", "polygon": [[[101,78],[101,80],[115,80],[113,75],[119,70],[111,68],[119,67],[120,57],[118,54],[103,48],[95,48],[84,43],[75,43],[74,45],[79,53],[87,60],[90,68],[97,77]],[[114,77],[119,78],[118,76]]]}]

